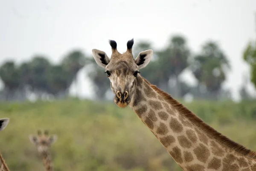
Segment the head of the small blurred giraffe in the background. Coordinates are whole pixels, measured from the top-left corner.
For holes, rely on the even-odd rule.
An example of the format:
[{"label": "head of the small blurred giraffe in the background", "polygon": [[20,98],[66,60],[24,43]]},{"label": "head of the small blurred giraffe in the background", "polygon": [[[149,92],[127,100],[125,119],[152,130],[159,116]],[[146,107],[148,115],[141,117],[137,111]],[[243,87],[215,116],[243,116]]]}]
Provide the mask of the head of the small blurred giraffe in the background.
[{"label": "head of the small blurred giraffe in the background", "polygon": [[35,144],[39,153],[47,152],[50,146],[58,139],[57,135],[50,135],[48,130],[44,130],[42,134],[41,130],[37,131],[38,135],[29,135],[30,141]]}]

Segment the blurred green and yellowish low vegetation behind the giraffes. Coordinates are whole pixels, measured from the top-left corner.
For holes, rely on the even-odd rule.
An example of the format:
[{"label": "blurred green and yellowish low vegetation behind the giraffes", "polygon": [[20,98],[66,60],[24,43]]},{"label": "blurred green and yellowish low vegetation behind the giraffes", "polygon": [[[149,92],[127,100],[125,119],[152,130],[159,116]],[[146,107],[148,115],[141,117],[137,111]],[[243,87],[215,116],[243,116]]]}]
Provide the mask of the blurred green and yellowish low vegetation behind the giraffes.
[{"label": "blurred green and yellowish low vegetation behind the giraffes", "polygon": [[[213,128],[256,150],[256,101],[194,101],[185,104]],[[112,101],[65,100],[2,103],[0,151],[12,171],[44,171],[29,134],[48,129],[55,171],[180,171],[143,122]]]}]

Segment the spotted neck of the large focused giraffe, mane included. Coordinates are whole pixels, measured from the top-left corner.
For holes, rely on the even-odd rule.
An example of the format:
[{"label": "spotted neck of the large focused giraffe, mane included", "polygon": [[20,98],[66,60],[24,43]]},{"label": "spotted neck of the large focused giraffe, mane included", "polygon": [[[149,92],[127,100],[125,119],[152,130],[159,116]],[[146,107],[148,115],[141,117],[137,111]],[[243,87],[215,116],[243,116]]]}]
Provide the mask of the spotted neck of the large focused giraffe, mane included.
[{"label": "spotted neck of the large focused giraffe, mane included", "polygon": [[256,153],[206,125],[140,75],[130,107],[184,171],[256,171]]}]

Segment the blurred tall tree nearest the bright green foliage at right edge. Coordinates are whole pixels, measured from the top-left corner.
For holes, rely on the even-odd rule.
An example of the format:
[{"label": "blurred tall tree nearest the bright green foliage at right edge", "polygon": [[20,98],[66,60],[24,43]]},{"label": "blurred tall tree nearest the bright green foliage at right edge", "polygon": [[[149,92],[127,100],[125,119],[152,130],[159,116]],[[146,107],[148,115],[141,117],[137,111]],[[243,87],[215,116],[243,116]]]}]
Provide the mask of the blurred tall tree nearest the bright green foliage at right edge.
[{"label": "blurred tall tree nearest the bright green foliage at right edge", "polygon": [[192,72],[200,85],[206,86],[211,99],[216,99],[221,90],[221,84],[226,79],[225,70],[230,69],[229,62],[218,45],[212,41],[204,44],[199,55],[195,55]]}]

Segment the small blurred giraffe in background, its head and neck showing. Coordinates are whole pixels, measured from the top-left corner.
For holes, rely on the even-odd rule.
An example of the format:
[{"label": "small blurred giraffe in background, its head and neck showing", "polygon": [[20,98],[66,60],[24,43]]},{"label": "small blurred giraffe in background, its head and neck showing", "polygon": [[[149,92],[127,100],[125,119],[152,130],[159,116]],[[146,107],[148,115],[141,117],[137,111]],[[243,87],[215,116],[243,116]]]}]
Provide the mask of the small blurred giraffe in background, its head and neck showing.
[{"label": "small blurred giraffe in background, its head and neck showing", "polygon": [[43,164],[46,171],[53,171],[53,164],[51,155],[49,152],[50,146],[58,139],[57,135],[50,135],[48,130],[44,130],[42,134],[41,130],[37,130],[38,136],[29,135],[30,141],[37,147],[38,153],[43,158]]}]

